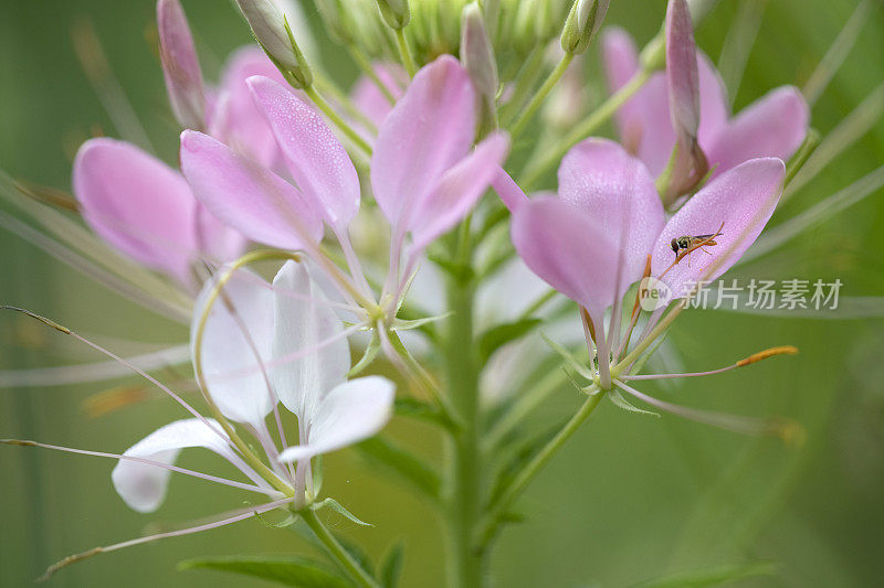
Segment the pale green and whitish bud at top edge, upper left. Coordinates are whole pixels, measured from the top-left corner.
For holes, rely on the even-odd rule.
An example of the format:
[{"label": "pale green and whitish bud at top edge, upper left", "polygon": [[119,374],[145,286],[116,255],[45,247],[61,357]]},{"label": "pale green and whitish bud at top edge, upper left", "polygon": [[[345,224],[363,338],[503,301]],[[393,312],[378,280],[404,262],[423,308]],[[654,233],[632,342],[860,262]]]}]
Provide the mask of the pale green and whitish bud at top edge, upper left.
[{"label": "pale green and whitish bud at top edge, upper left", "polygon": [[313,85],[313,72],[301,53],[292,29],[272,0],[236,0],[255,39],[283,76],[296,88]]}]

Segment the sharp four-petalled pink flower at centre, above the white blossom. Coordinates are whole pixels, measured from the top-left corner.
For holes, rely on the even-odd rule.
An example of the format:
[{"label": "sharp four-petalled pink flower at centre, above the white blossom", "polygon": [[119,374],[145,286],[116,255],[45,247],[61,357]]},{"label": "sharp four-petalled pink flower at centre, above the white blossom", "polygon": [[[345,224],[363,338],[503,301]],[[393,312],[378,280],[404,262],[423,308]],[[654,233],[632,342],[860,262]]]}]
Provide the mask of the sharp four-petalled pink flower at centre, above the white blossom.
[{"label": "sharp four-petalled pink flower at centre, above the white blossom", "polygon": [[[346,150],[316,110],[288,88],[261,76],[248,85],[297,189],[286,189],[282,179],[267,175],[272,172],[260,171],[222,143],[188,130],[181,136],[181,165],[193,192],[250,238],[304,248],[314,256],[320,255],[317,237],[306,228],[320,218],[347,254],[347,231],[359,210],[360,185]],[[392,229],[385,293],[393,302],[427,245],[466,215],[507,153],[503,135],[492,135],[473,149],[474,106],[475,94],[463,67],[442,56],[414,76],[379,129],[371,184]],[[409,257],[400,271],[407,236]],[[358,263],[351,260],[350,266],[354,280],[365,285]]]}]

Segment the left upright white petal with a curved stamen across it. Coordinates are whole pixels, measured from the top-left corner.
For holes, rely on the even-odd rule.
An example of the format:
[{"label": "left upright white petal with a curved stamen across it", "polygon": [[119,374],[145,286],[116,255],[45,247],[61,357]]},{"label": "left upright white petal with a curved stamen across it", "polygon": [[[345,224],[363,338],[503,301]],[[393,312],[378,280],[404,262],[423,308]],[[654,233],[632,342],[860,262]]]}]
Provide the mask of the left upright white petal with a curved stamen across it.
[{"label": "left upright white petal with a curved stamen across it", "polygon": [[[191,352],[214,284],[208,281],[197,298],[190,328]],[[263,427],[264,417],[273,408],[262,371],[262,364],[270,361],[272,341],[270,285],[251,271],[236,271],[212,304],[203,331],[201,357],[208,392],[229,419]]]}]

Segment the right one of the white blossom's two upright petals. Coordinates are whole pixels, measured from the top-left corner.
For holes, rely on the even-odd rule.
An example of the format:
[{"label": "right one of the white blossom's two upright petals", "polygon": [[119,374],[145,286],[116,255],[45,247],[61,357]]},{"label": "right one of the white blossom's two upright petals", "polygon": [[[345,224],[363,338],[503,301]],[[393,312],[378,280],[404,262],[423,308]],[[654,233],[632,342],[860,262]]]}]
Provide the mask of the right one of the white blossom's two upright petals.
[{"label": "right one of the white blossom's two upright petals", "polygon": [[[350,368],[350,349],[340,336],[344,324],[304,264],[287,261],[276,274],[273,290],[273,385],[285,407],[301,423],[309,423],[323,395],[344,382]],[[322,346],[311,351],[317,345]]]}]

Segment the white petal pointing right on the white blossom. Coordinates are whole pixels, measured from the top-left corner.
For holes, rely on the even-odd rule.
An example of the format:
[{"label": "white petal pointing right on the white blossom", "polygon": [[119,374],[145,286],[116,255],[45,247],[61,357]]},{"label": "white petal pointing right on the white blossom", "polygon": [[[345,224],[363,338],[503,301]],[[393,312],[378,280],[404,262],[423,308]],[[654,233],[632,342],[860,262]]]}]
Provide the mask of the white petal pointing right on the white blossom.
[{"label": "white petal pointing right on the white blossom", "polygon": [[351,379],[323,398],[307,432],[307,443],[290,447],[281,461],[328,453],[371,437],[392,415],[393,383],[380,376]]}]

